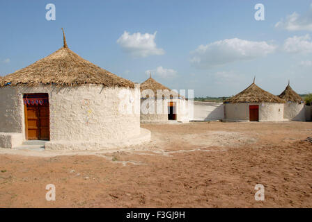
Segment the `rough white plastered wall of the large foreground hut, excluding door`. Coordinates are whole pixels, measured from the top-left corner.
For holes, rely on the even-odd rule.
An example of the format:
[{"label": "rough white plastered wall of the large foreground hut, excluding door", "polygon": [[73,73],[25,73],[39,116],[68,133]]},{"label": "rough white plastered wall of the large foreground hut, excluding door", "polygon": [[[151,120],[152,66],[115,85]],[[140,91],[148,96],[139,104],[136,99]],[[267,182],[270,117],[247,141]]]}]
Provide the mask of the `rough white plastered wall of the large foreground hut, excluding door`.
[{"label": "rough white plastered wall of the large foreground hut, excluding door", "polygon": [[138,85],[135,89],[100,85],[3,87],[0,93],[0,132],[20,133],[23,139],[23,94],[49,94],[50,144],[54,145],[49,147],[47,143],[46,148],[58,148],[58,142],[63,148],[67,147],[66,144],[70,146],[71,142],[107,146],[141,133]]}]

